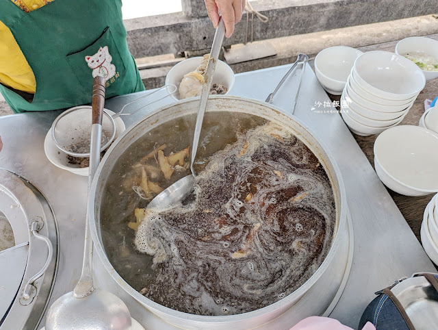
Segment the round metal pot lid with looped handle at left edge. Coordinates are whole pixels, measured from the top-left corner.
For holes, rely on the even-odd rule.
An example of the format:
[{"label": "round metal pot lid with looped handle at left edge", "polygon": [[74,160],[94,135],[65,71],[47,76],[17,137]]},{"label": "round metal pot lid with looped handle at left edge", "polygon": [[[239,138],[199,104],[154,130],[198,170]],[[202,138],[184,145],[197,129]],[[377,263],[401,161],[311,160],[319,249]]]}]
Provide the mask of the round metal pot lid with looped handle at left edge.
[{"label": "round metal pot lid with looped handle at left edge", "polygon": [[0,329],[38,327],[55,279],[57,245],[44,196],[0,169]]}]

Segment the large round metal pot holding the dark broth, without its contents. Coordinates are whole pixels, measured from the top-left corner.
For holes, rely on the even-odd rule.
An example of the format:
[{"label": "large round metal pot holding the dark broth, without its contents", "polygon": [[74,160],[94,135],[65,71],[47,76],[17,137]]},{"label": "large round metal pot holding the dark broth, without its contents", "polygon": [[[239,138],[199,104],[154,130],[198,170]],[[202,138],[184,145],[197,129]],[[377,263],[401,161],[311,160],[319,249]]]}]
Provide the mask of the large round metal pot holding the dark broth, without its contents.
[{"label": "large round metal pot holding the dark broth, without its contents", "polygon": [[[345,282],[345,275],[347,274],[346,276],[348,277],[349,272],[349,269],[346,268],[348,268],[347,259],[349,246],[352,242],[350,242],[350,236],[348,234],[348,210],[342,176],[339,173],[337,164],[335,164],[333,157],[324,144],[316,138],[315,134],[309,131],[304,123],[294,116],[287,115],[279,108],[252,99],[244,99],[241,97],[211,97],[208,111],[231,111],[252,114],[283,125],[283,127],[292,131],[292,133],[304,142],[318,157],[331,180],[336,207],[336,224],[331,249],[318,270],[316,270],[298,290],[292,292],[292,294],[289,294],[289,296],[286,296],[280,301],[253,312],[231,316],[197,316],[164,307],[142,296],[142,294],[134,290],[118,275],[116,270],[114,270],[114,267],[105,253],[105,246],[103,246],[101,237],[100,209],[107,177],[111,173],[116,160],[123,155],[133,142],[142,138],[145,134],[148,134],[151,129],[162,125],[162,123],[166,123],[168,120],[175,120],[175,118],[187,114],[193,114],[193,116],[195,116],[197,110],[198,100],[196,99],[180,101],[162,107],[149,114],[149,116],[140,121],[140,123],[129,127],[105,154],[92,183],[90,199],[88,201],[90,203],[88,216],[90,218],[92,238],[103,266],[110,272],[110,275],[115,280],[114,283],[118,283],[123,290],[151,312],[157,314],[160,318],[166,320],[166,322],[170,322],[179,327],[190,329],[221,329],[226,327],[248,329],[266,325],[266,323],[279,318],[279,316],[282,316],[285,312],[289,314],[289,324],[292,326],[294,322],[305,316],[324,313],[333,302],[335,296],[339,299],[339,286],[342,286],[341,283]],[[340,291],[342,292],[342,290]],[[272,324],[275,324],[275,321]]]}]

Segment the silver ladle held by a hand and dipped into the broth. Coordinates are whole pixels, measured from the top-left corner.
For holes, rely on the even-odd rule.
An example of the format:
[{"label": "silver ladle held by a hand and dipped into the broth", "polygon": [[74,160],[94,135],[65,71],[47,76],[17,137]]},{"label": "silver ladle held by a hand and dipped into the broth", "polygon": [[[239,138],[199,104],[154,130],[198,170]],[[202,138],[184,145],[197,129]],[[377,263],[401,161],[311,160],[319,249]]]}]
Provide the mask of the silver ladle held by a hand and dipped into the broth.
[{"label": "silver ladle held by a hand and dipped into the broth", "polygon": [[163,192],[160,192],[155,196],[155,198],[148,204],[146,209],[166,209],[180,201],[183,201],[190,192],[193,190],[194,186],[194,158],[196,157],[196,152],[198,151],[199,138],[201,136],[201,129],[203,127],[203,120],[205,109],[207,108],[207,101],[211,89],[211,81],[213,80],[214,70],[216,69],[216,63],[218,62],[220,49],[222,47],[222,42],[225,36],[225,25],[220,17],[218,27],[214,34],[213,45],[211,45],[210,57],[207,63],[207,69],[205,71],[205,83],[203,84],[203,90],[201,92],[201,101],[199,102],[198,114],[196,115],[196,124],[194,127],[193,145],[192,145],[192,158],[190,162],[191,174],[179,179],[177,182],[173,183]]}]

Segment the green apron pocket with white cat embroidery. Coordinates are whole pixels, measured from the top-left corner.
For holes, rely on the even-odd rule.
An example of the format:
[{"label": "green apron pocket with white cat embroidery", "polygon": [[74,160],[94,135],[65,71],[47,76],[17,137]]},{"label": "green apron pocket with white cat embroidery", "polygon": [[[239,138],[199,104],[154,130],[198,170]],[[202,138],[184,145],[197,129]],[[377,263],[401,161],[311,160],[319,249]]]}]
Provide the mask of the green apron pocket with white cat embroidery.
[{"label": "green apron pocket with white cat embroidery", "polygon": [[91,45],[68,54],[66,60],[81,86],[86,92],[90,92],[90,95],[93,79],[98,75],[106,81],[105,97],[117,95],[118,89],[122,87],[122,79],[118,78],[125,72],[125,63],[120,56],[110,27],[105,27],[101,36]]}]

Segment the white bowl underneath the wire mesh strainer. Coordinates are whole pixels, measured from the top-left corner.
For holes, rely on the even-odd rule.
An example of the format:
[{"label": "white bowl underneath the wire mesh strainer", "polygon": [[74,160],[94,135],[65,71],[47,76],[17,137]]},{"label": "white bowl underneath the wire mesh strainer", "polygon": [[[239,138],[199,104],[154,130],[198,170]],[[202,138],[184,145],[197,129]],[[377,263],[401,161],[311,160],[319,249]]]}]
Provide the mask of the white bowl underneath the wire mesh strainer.
[{"label": "white bowl underneath the wire mesh strainer", "polygon": [[[90,107],[91,108],[91,107]],[[111,110],[105,109],[107,114],[113,115],[114,112]],[[114,123],[116,124],[116,139],[123,131],[125,131],[125,123],[123,123],[122,118],[117,117],[114,119]],[[46,138],[44,139],[44,152],[46,153],[47,159],[55,166],[62,168],[63,170],[68,170],[71,173],[82,175],[84,177],[88,176],[88,167],[79,167],[79,165],[73,165],[68,163],[67,154],[60,151],[58,147],[56,147],[55,142],[53,142],[53,138],[51,135],[51,129],[47,132]]]}]

